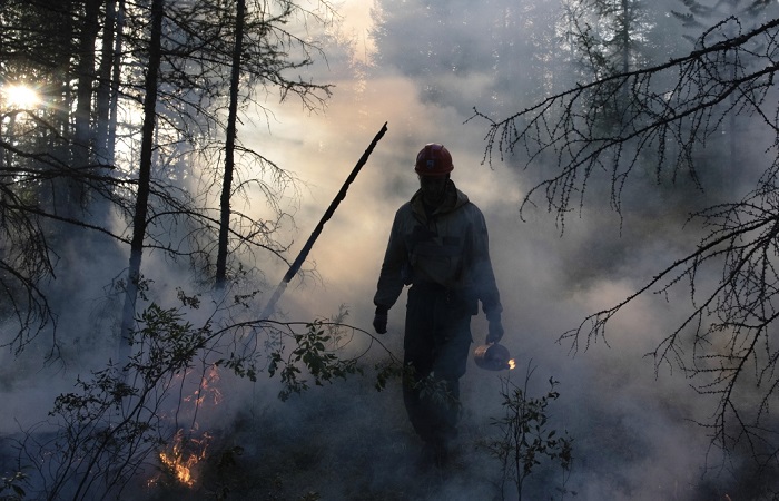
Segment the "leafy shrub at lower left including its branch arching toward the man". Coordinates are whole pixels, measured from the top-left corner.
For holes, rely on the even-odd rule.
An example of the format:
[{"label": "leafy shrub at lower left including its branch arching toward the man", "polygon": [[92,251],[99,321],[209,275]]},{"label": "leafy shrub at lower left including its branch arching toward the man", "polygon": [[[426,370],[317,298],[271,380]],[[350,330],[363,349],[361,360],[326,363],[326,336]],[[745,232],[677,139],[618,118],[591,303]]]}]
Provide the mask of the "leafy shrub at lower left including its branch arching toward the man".
[{"label": "leafy shrub at lower left including its branch arching toward the man", "polygon": [[[50,420],[27,430],[19,444],[19,461],[33,469],[34,478],[13,479],[14,489],[24,481],[42,485],[40,492],[28,489],[31,495],[107,499],[120,497],[144,469],[151,465],[165,470],[158,464],[160,453],[171,442],[175,450],[183,448],[187,438],[181,436],[181,430],[197,426],[194,418],[188,426],[179,420],[197,415],[197,409],[187,409],[187,399],[180,394],[193,384],[198,392],[201,390],[199,374],[225,366],[238,376],[255,380],[263,353],[213,358],[234,344],[246,327],[254,335],[265,333],[279,342],[267,354],[267,371],[270,376],[280,373],[282,400],[309,387],[304,372],[316,385],[362,373],[358,357],[338,357],[338,351],[352,340],[344,335],[342,323],[275,324],[263,320],[217,328],[216,317],[211,317],[197,327],[186,315],[200,306],[199,298],[179,291],[179,299],[184,307],[162,308],[151,303],[145,308],[137,318],[139,328],[132,333],[130,360],[124,365],[110,363],[92,371],[89,377],[79,376],[75,391],[56,399]],[[305,331],[297,332],[300,326]],[[201,400],[195,399],[194,405],[199,407]],[[55,432],[49,435],[45,429]]]}]

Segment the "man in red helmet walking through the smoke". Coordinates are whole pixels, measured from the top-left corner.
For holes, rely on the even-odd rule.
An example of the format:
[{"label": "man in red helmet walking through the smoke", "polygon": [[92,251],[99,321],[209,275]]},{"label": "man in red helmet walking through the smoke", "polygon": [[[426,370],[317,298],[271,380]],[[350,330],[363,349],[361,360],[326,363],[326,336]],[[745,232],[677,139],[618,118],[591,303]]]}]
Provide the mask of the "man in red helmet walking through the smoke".
[{"label": "man in red helmet walking through the smoke", "polygon": [[450,179],[452,156],[428,144],[416,157],[420,189],[395,213],[378,277],[374,328],[404,285],[406,305],[403,399],[414,430],[436,465],[456,436],[460,377],[471,351],[471,316],[479,302],[489,321],[486,343],[503,336],[501,299],[481,210]]}]

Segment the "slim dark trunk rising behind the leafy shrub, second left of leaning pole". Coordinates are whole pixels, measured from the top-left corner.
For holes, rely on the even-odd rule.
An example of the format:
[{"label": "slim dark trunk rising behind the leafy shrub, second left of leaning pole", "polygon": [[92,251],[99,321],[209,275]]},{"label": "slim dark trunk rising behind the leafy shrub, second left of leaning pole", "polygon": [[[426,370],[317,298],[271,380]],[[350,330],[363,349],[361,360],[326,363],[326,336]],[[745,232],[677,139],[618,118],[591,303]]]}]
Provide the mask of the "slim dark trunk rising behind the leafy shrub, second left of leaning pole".
[{"label": "slim dark trunk rising behind the leafy shrub, second left of leaning pole", "polygon": [[144,237],[146,236],[146,215],[148,213],[149,189],[151,180],[151,150],[154,146],[155,122],[157,118],[157,90],[159,65],[161,60],[162,9],[164,0],[151,3],[151,38],[149,40],[149,66],[146,73],[146,97],[144,98],[144,125],[141,128],[140,168],[138,173],[138,198],[136,199],[132,218],[132,240],[130,243],[130,261],[127,269],[127,291],[121,318],[121,340],[119,345],[119,363],[124,363],[130,354],[128,343],[135,325],[135,307],[140,281],[140,263],[144,255]]}]

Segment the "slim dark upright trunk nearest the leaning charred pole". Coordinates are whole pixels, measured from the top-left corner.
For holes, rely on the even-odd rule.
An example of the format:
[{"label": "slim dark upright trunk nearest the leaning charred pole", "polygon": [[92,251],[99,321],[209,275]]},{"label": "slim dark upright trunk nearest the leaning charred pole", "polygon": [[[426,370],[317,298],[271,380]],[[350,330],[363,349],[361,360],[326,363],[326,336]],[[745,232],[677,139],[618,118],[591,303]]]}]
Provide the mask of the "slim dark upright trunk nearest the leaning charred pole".
[{"label": "slim dark upright trunk nearest the leaning charred pole", "polygon": [[240,55],[244,45],[244,21],[246,0],[237,1],[235,46],[233,49],[233,73],[230,76],[230,102],[225,140],[225,175],[221,184],[219,220],[219,242],[216,258],[216,287],[223,288],[227,281],[227,244],[230,229],[230,196],[233,191],[233,171],[235,169],[235,140],[237,135],[238,84],[240,82]]}]

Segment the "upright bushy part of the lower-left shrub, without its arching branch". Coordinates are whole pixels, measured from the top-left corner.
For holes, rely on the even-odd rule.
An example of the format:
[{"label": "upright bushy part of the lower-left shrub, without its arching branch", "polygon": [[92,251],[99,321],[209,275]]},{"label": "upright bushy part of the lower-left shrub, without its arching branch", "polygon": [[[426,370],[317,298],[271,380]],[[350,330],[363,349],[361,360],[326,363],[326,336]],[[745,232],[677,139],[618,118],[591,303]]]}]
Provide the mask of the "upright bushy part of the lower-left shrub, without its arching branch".
[{"label": "upright bushy part of the lower-left shrub, without its arching branch", "polygon": [[[166,444],[170,390],[193,366],[209,330],[156,304],[138,321],[142,328],[134,333],[130,360],[79,376],[76,391],[56,399],[50,420],[28,431],[20,450],[37,468],[48,499],[119,495]],[[41,439],[45,426],[57,430],[51,439]]]}]

